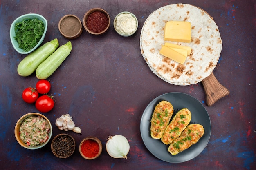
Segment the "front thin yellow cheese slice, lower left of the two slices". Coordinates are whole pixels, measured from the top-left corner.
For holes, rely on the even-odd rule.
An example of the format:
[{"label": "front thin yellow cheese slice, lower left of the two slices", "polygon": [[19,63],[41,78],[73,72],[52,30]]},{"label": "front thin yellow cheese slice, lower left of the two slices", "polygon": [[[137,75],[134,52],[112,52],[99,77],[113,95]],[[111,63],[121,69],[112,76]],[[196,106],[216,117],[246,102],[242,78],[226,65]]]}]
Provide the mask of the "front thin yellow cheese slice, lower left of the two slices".
[{"label": "front thin yellow cheese slice, lower left of the two slices", "polygon": [[168,46],[162,46],[160,54],[180,64],[183,64],[186,61],[186,56],[178,53],[177,51],[173,50],[172,48],[169,48]]}]

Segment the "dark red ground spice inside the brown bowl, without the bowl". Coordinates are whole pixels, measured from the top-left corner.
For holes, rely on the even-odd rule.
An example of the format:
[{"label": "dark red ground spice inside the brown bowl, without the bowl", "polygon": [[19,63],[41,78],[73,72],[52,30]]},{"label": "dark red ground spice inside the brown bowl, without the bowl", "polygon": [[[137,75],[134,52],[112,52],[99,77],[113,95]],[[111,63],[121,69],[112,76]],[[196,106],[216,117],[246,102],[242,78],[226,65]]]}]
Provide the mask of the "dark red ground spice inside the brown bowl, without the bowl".
[{"label": "dark red ground spice inside the brown bowl, without the bowl", "polygon": [[92,12],[88,15],[86,25],[90,31],[100,33],[107,28],[108,17],[101,11]]}]

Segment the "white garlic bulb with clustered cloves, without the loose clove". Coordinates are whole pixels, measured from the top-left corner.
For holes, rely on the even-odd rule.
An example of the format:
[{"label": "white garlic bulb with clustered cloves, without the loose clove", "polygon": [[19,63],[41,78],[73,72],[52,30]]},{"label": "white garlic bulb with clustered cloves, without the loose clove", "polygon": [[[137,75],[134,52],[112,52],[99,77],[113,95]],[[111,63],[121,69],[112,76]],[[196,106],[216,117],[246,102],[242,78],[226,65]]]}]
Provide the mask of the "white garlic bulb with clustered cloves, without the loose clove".
[{"label": "white garlic bulb with clustered cloves, without the loose clove", "polygon": [[60,130],[73,130],[75,127],[74,122],[72,121],[72,117],[69,114],[61,115],[60,118],[56,119],[55,125]]}]

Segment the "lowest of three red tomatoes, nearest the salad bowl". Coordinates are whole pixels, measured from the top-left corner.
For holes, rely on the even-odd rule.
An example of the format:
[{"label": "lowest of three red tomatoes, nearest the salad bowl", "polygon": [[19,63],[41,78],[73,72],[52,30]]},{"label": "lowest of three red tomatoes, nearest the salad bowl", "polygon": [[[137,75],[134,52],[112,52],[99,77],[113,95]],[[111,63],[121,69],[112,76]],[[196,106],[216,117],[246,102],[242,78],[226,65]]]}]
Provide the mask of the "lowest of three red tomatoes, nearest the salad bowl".
[{"label": "lowest of three red tomatoes, nearest the salad bowl", "polygon": [[53,107],[53,96],[42,95],[36,100],[36,109],[40,112],[49,112]]}]

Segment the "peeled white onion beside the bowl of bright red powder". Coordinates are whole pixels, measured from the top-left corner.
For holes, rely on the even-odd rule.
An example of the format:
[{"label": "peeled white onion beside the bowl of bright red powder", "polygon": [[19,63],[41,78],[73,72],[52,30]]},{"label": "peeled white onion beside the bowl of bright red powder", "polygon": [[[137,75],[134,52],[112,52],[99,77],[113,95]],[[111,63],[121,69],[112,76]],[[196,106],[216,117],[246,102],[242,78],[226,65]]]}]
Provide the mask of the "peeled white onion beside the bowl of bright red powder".
[{"label": "peeled white onion beside the bowl of bright red powder", "polygon": [[126,137],[122,135],[110,136],[107,139],[106,150],[113,158],[125,158],[130,150],[130,145]]}]

